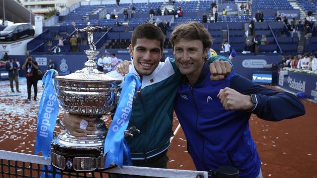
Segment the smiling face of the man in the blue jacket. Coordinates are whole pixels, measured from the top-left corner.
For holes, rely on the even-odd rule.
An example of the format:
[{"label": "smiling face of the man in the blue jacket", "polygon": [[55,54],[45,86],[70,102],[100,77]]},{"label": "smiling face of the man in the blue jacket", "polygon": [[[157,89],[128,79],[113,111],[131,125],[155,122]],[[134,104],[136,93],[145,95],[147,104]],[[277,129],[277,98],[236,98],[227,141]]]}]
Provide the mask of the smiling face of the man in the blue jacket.
[{"label": "smiling face of the man in the blue jacket", "polygon": [[174,57],[177,67],[191,84],[194,84],[205,63],[208,48],[200,40],[179,39],[174,42]]}]

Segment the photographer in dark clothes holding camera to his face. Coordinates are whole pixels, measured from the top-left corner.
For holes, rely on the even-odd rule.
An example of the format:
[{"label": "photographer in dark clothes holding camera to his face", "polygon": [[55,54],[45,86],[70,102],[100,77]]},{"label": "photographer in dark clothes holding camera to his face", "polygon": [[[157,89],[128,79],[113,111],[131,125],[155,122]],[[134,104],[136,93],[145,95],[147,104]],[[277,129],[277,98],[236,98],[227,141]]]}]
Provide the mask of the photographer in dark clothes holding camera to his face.
[{"label": "photographer in dark clothes holding camera to his face", "polygon": [[31,87],[33,85],[34,89],[34,100],[36,101],[36,95],[38,93],[38,63],[36,61],[32,61],[32,56],[28,55],[25,59],[25,62],[22,66],[23,70],[26,70],[26,84],[28,89],[28,98],[27,102],[31,101]]}]

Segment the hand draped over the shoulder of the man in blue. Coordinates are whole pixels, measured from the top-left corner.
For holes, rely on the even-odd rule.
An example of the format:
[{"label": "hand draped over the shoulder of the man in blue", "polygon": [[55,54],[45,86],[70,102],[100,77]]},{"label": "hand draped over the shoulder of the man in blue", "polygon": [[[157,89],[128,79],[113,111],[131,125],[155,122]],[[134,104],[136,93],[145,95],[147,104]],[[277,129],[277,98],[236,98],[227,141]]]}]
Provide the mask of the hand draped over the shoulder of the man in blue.
[{"label": "hand draped over the shoulder of the man in blue", "polygon": [[210,79],[213,81],[218,81],[224,79],[230,74],[232,71],[232,66],[230,62],[215,61],[209,65],[209,70],[211,73]]}]

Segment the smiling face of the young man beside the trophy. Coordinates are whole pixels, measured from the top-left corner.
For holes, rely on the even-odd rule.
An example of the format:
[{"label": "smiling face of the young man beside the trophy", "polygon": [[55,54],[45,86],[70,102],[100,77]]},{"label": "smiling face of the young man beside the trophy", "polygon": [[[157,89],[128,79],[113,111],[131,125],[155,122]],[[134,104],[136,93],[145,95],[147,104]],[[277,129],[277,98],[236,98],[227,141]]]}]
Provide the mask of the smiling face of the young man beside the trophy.
[{"label": "smiling face of the young man beside the trophy", "polygon": [[139,75],[151,75],[159,65],[163,49],[159,40],[137,39],[135,45],[129,46],[133,65]]}]

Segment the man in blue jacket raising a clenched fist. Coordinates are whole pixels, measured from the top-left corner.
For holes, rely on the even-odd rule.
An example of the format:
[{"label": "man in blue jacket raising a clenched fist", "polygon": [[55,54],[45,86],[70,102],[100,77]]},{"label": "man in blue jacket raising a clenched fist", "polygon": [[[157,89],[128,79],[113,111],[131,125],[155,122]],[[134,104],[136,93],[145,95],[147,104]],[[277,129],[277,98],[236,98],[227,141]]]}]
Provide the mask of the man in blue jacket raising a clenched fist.
[{"label": "man in blue jacket raising a clenched fist", "polygon": [[264,88],[234,73],[221,81],[209,80],[205,59],[212,40],[199,22],[177,26],[170,43],[182,73],[174,108],[197,170],[234,166],[239,178],[262,178],[249,130],[251,114],[280,121],[304,115],[304,105],[293,94]]}]

